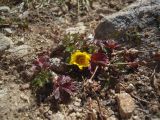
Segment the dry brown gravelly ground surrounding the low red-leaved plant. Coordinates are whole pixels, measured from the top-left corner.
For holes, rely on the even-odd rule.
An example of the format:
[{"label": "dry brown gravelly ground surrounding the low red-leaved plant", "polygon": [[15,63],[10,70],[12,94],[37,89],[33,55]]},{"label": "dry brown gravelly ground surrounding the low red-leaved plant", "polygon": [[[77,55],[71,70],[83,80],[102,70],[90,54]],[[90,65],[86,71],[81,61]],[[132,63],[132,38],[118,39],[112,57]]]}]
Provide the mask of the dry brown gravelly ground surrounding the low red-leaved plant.
[{"label": "dry brown gravelly ground surrounding the low red-leaved plant", "polygon": [[[77,94],[70,103],[60,104],[58,111],[55,110],[56,104],[38,104],[30,89],[30,81],[25,78],[23,71],[30,67],[38,53],[55,48],[66,33],[96,34],[97,39],[108,38],[106,35],[115,32],[113,29],[117,26],[112,24],[115,26],[109,26],[108,32],[108,29],[97,28],[99,23],[108,20],[106,16],[127,9],[126,7],[135,1],[86,0],[79,4],[76,0],[0,1],[1,119],[95,120],[94,115],[88,118],[87,116],[90,103],[93,113],[99,111],[97,102],[92,100],[82,104],[82,99]],[[134,47],[141,51],[142,61],[151,59],[154,52],[160,49],[160,11],[155,13],[140,17],[140,21],[151,20],[149,23],[143,21],[142,26],[138,24],[134,28],[127,27],[124,37],[115,37],[128,48]],[[160,53],[158,55],[160,56]],[[160,119],[159,56],[158,62],[140,66],[136,72],[124,75],[119,87],[108,91],[106,100],[100,100],[101,110],[107,120]]]}]

